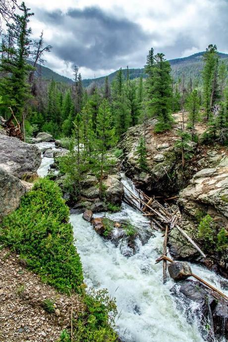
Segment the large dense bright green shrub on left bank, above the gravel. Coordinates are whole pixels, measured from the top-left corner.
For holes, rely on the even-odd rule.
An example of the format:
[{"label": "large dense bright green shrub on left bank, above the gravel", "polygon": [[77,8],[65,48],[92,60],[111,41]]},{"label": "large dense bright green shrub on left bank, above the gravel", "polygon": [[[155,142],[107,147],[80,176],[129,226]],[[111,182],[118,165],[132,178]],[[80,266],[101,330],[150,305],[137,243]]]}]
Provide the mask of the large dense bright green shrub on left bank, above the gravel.
[{"label": "large dense bright green shrub on left bank, above the gravel", "polygon": [[4,218],[0,240],[26,260],[29,269],[58,290],[79,291],[83,282],[80,257],[73,245],[69,209],[57,184],[36,182],[20,207]]}]

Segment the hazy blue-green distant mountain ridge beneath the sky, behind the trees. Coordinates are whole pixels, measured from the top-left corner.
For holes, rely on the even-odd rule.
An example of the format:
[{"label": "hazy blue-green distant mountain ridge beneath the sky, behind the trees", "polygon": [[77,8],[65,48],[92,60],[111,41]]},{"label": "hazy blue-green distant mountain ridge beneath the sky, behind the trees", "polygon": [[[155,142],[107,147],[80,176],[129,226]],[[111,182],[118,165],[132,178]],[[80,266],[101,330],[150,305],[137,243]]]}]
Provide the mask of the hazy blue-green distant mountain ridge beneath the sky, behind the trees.
[{"label": "hazy blue-green distant mountain ridge beneath the sky, behind the trees", "polygon": [[[192,79],[201,79],[201,70],[203,68],[203,55],[205,52],[199,52],[197,54],[188,56],[188,57],[180,57],[180,58],[174,58],[174,59],[170,59],[169,62],[171,64],[171,73],[172,73],[172,77],[174,78],[174,80],[178,80],[178,78],[180,78],[183,74],[183,72],[185,73],[186,78],[189,78],[190,75],[192,77]],[[228,63],[228,54],[224,54],[224,53],[219,53],[219,56],[223,59],[225,59]],[[72,84],[73,80],[59,75],[57,72],[51,70],[50,68],[40,65],[38,66],[38,68],[40,68],[40,73],[41,76],[45,79],[51,80],[54,79],[57,82],[63,82],[63,83],[67,83],[67,84]],[[113,81],[113,79],[116,76],[118,70],[114,71],[113,73],[111,73],[110,75],[108,75],[108,79],[110,82]],[[127,74],[127,69],[122,69],[123,71],[123,75],[126,78],[126,74]],[[129,69],[129,78],[130,79],[135,79],[138,78],[140,76],[143,76],[143,78],[146,78],[146,74],[144,72],[144,68],[134,68],[134,69]],[[82,80],[83,86],[85,88],[89,87],[93,82],[96,82],[96,84],[99,87],[102,87],[105,83],[105,78],[106,76],[102,76],[102,77],[98,77],[98,78],[88,78],[88,79],[84,79]]]}]

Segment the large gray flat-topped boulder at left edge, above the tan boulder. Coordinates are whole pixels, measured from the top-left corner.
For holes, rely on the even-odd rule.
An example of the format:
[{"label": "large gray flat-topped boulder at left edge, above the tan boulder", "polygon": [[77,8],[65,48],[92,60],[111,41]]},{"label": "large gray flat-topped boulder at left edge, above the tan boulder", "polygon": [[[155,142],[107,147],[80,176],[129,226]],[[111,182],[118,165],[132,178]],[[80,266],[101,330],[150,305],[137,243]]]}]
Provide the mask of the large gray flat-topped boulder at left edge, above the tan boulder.
[{"label": "large gray flat-topped boulder at left edge, above the tan boulder", "polygon": [[0,134],[0,167],[18,178],[34,175],[41,164],[41,151],[34,145]]}]

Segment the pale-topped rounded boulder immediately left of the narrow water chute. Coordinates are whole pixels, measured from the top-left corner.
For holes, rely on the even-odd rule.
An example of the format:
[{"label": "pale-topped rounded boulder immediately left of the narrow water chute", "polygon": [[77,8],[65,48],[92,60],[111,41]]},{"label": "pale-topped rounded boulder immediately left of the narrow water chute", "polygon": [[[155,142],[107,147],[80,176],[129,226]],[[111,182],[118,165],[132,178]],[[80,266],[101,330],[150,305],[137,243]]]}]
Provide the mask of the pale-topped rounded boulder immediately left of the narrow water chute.
[{"label": "pale-topped rounded boulder immediately left of the narrow water chute", "polygon": [[107,187],[105,191],[106,200],[112,204],[121,204],[124,195],[123,184],[112,175],[107,177],[104,184]]}]

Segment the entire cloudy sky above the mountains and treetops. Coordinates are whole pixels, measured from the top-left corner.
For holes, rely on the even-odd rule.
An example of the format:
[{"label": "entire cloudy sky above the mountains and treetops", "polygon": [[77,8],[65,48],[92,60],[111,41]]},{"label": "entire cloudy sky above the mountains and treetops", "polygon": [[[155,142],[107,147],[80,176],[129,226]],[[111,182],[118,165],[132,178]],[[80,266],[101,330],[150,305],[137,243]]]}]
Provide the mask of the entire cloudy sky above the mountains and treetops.
[{"label": "entire cloudy sky above the mountains and treetops", "polygon": [[107,75],[142,67],[148,50],[168,59],[216,44],[228,53],[228,0],[26,0],[35,16],[33,35],[44,30],[46,65],[72,77]]}]

